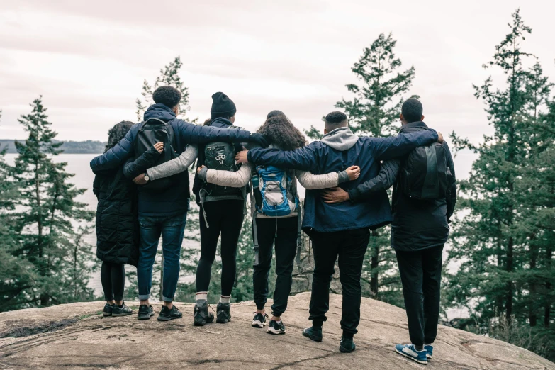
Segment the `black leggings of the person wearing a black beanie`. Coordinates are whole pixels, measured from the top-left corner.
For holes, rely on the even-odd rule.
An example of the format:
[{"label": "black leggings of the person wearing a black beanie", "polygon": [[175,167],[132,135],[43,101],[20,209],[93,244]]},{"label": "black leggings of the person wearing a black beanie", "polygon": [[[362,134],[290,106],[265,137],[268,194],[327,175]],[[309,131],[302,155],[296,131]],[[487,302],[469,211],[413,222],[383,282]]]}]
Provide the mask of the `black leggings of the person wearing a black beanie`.
[{"label": "black leggings of the person wearing a black beanie", "polygon": [[245,218],[244,203],[239,200],[212,201],[204,203],[204,211],[208,220],[208,227],[204,216],[201,218],[201,259],[196,268],[196,291],[208,291],[212,264],[218,247],[220,233],[222,235],[222,296],[231,296],[235,284],[237,266],[237,242],[241,233],[243,218]]}]

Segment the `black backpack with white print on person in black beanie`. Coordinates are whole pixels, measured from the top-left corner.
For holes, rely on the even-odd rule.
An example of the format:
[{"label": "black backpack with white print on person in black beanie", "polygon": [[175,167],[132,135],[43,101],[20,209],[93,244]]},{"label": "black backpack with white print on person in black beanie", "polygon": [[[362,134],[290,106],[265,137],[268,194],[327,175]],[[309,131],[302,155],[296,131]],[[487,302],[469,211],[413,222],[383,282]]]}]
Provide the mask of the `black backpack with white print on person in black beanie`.
[{"label": "black backpack with white print on person in black beanie", "polygon": [[[239,129],[236,126],[229,126],[229,129]],[[204,165],[208,169],[220,169],[224,171],[237,172],[239,167],[235,164],[235,153],[237,147],[230,142],[211,142],[204,147]],[[241,195],[244,196],[244,189],[232,188],[230,186],[220,186],[214,184],[204,184],[204,189],[210,196]]]}]

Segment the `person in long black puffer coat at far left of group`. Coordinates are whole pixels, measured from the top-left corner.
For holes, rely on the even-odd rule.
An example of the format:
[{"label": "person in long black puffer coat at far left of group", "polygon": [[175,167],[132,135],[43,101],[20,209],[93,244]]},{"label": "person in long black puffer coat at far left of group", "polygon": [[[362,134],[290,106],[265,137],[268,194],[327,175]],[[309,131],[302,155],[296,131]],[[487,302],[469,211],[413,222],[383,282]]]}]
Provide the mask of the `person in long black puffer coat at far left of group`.
[{"label": "person in long black puffer coat at far left of group", "polygon": [[[132,122],[122,121],[108,131],[106,151],[128,133]],[[157,143],[136,160],[125,164],[126,170],[150,167],[164,149]],[[124,176],[124,168],[94,172],[93,192],[96,206],[96,257],[102,261],[101,282],[106,298],[104,316],[125,316],[133,313],[123,302],[125,288],[124,264],[137,266],[139,257],[138,215],[135,184]]]}]

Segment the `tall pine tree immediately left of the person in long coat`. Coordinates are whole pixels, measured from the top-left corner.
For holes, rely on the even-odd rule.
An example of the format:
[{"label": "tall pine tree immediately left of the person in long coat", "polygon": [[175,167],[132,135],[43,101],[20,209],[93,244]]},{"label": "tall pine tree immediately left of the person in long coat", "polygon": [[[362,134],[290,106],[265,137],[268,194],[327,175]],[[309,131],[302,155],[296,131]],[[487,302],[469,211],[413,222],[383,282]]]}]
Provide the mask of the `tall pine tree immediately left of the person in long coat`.
[{"label": "tall pine tree immediately left of the person in long coat", "polygon": [[[33,264],[38,276],[35,284],[25,291],[25,303],[50,305],[83,296],[72,298],[65,281],[72,267],[77,266],[70,253],[77,242],[75,228],[89,223],[93,213],[86,211],[84,203],[74,200],[85,189],[76,189],[69,183],[73,175],[65,172],[67,164],[52,160],[60,154],[61,143],[53,142],[57,134],[47,121],[42,96],[31,106],[31,113],[19,119],[28,138],[25,142],[16,141],[18,157],[14,174],[20,184],[21,198],[16,203],[15,230],[21,238],[19,255]],[[84,269],[82,276],[88,276],[88,264],[79,264],[79,269]],[[73,291],[87,292],[86,296],[92,297],[86,283],[87,279],[72,281],[71,284],[79,284]]]}]

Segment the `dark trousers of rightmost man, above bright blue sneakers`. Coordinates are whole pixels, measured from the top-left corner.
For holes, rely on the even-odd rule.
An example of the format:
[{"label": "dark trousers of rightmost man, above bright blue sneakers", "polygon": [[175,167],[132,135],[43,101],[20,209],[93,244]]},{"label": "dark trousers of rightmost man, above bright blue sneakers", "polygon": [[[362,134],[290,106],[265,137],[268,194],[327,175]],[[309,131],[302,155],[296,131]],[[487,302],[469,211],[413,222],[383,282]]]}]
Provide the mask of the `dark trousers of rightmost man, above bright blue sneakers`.
[{"label": "dark trousers of rightmost man, above bright blue sneakers", "polygon": [[396,250],[410,342],[432,344],[439,320],[439,287],[442,281],[443,245],[417,251]]}]

